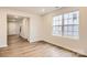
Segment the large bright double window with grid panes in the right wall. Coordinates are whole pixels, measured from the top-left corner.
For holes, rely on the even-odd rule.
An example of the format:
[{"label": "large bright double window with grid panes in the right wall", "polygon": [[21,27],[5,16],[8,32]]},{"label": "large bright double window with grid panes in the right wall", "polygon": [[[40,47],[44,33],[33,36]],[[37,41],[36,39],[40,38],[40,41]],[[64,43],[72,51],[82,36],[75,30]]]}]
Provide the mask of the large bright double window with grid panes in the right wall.
[{"label": "large bright double window with grid panes in the right wall", "polygon": [[53,18],[53,35],[78,36],[79,11]]}]

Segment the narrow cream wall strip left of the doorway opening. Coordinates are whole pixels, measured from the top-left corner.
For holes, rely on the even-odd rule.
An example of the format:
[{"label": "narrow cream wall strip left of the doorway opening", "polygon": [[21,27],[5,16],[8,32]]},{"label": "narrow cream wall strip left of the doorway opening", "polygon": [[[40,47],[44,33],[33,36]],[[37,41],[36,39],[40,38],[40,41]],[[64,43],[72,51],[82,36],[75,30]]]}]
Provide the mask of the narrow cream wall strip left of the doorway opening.
[{"label": "narrow cream wall strip left of the doorway opening", "polygon": [[7,46],[7,15],[0,9],[0,47]]}]

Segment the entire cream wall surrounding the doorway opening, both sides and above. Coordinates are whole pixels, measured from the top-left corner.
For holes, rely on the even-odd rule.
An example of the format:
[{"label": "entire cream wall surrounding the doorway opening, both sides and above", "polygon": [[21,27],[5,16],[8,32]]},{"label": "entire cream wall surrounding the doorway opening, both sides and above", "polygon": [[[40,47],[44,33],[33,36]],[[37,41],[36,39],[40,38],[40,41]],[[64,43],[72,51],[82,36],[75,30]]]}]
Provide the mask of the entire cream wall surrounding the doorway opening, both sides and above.
[{"label": "entire cream wall surrounding the doorway opening, both sides and above", "polygon": [[0,9],[0,47],[7,46],[7,14],[12,14],[12,15],[20,15],[20,17],[28,17],[30,18],[30,33],[29,33],[29,41],[30,42],[35,42],[39,40],[42,40],[40,36],[42,35],[40,32],[40,25],[42,24],[41,17],[18,11],[18,10],[10,10],[10,9]]}]

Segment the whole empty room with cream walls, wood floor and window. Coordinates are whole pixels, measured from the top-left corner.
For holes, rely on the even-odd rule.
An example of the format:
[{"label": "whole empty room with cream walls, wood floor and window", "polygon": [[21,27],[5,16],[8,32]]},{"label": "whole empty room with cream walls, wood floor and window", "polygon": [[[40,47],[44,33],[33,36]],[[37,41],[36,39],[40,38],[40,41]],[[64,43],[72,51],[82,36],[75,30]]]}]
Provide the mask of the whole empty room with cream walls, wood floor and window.
[{"label": "whole empty room with cream walls, wood floor and window", "polygon": [[0,57],[86,57],[86,7],[0,7]]}]

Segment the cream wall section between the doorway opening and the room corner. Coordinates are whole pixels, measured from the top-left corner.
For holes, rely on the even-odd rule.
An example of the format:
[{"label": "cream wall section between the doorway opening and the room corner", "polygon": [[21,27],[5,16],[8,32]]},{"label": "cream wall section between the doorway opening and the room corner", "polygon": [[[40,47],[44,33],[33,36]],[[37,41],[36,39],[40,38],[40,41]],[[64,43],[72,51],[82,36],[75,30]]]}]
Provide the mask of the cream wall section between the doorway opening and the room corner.
[{"label": "cream wall section between the doorway opening and the room corner", "polygon": [[[41,17],[33,17],[30,19],[30,39],[31,42],[35,42],[35,41],[43,41],[43,21],[41,19]],[[35,37],[35,39],[34,39]]]}]

